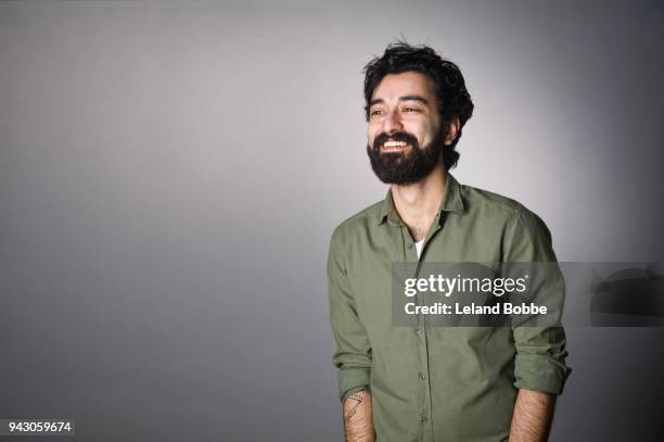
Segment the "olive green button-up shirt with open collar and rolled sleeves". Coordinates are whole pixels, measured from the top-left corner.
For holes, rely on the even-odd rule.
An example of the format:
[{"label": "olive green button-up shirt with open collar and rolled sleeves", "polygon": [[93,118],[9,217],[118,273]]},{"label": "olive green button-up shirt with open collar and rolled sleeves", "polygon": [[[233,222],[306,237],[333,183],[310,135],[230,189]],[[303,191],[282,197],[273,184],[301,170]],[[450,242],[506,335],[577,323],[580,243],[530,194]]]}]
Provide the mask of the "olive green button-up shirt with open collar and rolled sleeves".
[{"label": "olive green button-up shirt with open collar and rolled sleeves", "polygon": [[[516,201],[447,176],[421,262],[551,262],[545,224]],[[332,235],[328,292],[342,401],[368,388],[379,442],[502,441],[518,389],[560,394],[560,327],[397,327],[392,264],[418,262],[391,191]]]}]

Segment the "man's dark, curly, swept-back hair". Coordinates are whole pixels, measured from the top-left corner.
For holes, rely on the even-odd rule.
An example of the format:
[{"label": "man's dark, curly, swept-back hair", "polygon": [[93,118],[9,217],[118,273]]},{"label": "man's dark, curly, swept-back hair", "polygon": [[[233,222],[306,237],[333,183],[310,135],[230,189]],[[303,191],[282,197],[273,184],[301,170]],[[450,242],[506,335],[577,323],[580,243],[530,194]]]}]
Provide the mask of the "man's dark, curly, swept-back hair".
[{"label": "man's dark, curly, swept-back hair", "polygon": [[473,102],[465,89],[465,81],[459,67],[440,58],[427,46],[411,46],[405,41],[397,41],[387,46],[382,56],[376,56],[365,66],[365,112],[369,121],[369,103],[373,91],[387,74],[401,74],[404,72],[419,72],[433,80],[440,108],[440,119],[444,134],[455,116],[459,118],[460,127],[451,144],[443,148],[445,169],[449,171],[457,165],[459,152],[455,150],[461,137],[461,128],[473,114]]}]

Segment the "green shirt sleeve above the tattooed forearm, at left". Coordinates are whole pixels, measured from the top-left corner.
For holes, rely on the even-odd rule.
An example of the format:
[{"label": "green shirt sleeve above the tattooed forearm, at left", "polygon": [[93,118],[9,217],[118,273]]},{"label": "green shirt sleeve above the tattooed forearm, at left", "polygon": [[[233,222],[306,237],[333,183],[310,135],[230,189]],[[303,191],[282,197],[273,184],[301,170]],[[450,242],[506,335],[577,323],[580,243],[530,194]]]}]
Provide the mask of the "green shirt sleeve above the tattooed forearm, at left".
[{"label": "green shirt sleeve above the tattooed forearm, at left", "polygon": [[336,343],[332,364],[339,368],[339,396],[344,401],[349,394],[370,384],[371,344],[357,315],[336,232],[330,241],[328,296],[330,325]]}]

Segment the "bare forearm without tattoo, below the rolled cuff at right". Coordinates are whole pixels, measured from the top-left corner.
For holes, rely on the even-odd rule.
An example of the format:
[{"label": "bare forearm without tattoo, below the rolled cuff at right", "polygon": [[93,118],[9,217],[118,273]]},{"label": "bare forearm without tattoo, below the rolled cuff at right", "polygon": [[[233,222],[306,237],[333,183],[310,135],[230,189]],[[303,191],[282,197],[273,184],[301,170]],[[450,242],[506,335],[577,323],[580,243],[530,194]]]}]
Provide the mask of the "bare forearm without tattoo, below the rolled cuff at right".
[{"label": "bare forearm without tattoo, below the rolled cuff at right", "polygon": [[546,442],[554,408],[556,395],[520,389],[514,404],[510,442]]}]

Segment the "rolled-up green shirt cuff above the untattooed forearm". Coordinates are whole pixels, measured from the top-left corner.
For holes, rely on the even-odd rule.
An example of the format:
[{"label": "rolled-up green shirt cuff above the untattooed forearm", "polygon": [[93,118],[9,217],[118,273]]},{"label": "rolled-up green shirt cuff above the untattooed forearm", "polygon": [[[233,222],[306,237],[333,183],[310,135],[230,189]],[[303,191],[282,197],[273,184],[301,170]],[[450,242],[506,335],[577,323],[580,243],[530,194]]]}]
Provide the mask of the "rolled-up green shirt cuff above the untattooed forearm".
[{"label": "rolled-up green shirt cuff above the untattooed forearm", "polygon": [[514,359],[514,387],[561,394],[572,369],[547,355],[518,354]]}]

